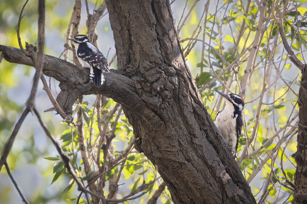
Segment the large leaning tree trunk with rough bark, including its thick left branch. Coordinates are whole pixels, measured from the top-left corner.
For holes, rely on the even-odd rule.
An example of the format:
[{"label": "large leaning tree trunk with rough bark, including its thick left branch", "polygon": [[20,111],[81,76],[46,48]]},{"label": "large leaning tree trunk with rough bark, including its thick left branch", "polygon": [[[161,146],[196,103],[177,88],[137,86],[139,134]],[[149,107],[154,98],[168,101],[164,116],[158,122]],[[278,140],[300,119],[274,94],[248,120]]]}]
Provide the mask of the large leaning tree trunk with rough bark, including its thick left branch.
[{"label": "large leaning tree trunk with rough bark, including its thick left branch", "polygon": [[[100,89],[81,69],[44,56],[44,74],[60,81],[57,101],[72,113],[78,95],[103,94],[122,104],[139,151],[157,165],[173,202],[256,203],[218,134],[185,64],[169,1],[107,0],[118,71]],[[7,61],[31,65],[17,48],[0,46]]]}]

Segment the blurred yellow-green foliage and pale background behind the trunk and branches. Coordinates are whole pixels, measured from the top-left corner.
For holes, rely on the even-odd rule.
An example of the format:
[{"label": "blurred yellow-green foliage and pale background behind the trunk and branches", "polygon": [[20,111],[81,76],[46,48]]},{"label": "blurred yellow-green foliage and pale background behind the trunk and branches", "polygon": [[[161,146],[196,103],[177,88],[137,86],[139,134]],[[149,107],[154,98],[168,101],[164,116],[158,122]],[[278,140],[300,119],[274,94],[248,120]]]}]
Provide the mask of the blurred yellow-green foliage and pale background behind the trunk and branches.
[{"label": "blurred yellow-green foliage and pale background behind the trunk and branches", "polygon": [[[97,5],[99,6],[102,2],[102,0],[97,1]],[[218,98],[214,89],[227,92],[225,86],[222,86],[221,82],[223,82],[232,92],[239,93],[239,85],[236,81],[242,80],[249,52],[255,39],[259,21],[259,9],[256,3],[258,1],[211,1],[207,15],[204,15],[206,1],[196,3],[192,0],[176,0],[171,2],[173,2],[171,8],[176,29],[184,22],[184,26],[180,31],[177,30],[177,33],[187,65],[195,79],[196,86],[200,89],[205,86],[200,91],[200,95],[214,120],[217,111],[224,107],[224,101]],[[277,8],[280,11],[282,11],[284,2],[277,2]],[[1,44],[18,47],[16,26],[23,3],[19,0],[1,1]],[[45,54],[59,57],[64,51],[65,33],[74,3],[75,1],[72,0],[46,0]],[[90,13],[95,8],[95,4],[96,1],[88,0]],[[300,71],[287,57],[280,37],[277,38],[277,45],[274,48],[278,27],[269,18],[271,6],[272,0],[269,0],[259,41],[259,50],[255,58],[254,72],[251,75],[249,89],[245,97],[245,131],[242,131],[239,140],[236,159],[243,175],[251,185],[257,202],[288,203],[292,201],[289,182],[294,182],[296,167],[295,160],[291,155],[296,152],[295,133],[298,120],[296,101],[300,86]],[[306,6],[304,1],[290,1],[289,9],[295,9],[287,13],[284,19],[284,31],[288,43],[291,44],[292,49],[302,61],[305,61],[307,50]],[[189,16],[184,21],[188,13]],[[24,14],[20,28],[21,41],[35,44],[37,40],[37,1],[29,1]],[[86,19],[87,14],[84,1],[82,1],[80,34],[87,32]],[[244,29],[240,33],[243,22]],[[111,59],[115,47],[108,14],[99,20],[96,29],[99,37],[99,49],[105,56],[108,54],[108,59]],[[231,69],[223,72],[228,65],[212,48],[203,46],[201,41],[188,40],[187,38],[197,38],[210,44],[238,71],[237,78]],[[274,58],[271,63],[268,83],[265,86],[266,91],[263,94],[263,77],[272,52],[274,52]],[[72,58],[72,54],[70,53],[68,57]],[[117,69],[116,59],[112,63],[111,69]],[[0,73],[0,150],[2,150],[28,97],[34,69],[2,60]],[[223,74],[217,79],[216,75],[220,73]],[[58,82],[51,79],[50,83],[53,94],[57,95],[60,91]],[[78,176],[86,183],[88,178],[84,174],[76,127],[60,122],[60,116],[54,115],[54,112],[43,113],[43,110],[52,107],[52,104],[41,89],[42,84],[39,85],[37,92],[37,109],[41,111],[51,133],[56,136],[63,149],[71,157]],[[262,101],[259,98],[262,98]],[[111,133],[113,128],[115,130],[116,137],[112,140],[112,155],[116,158],[133,139],[133,129],[125,115],[119,113],[120,107],[112,99],[104,98],[102,101],[104,103],[100,109],[101,114],[110,119],[107,131]],[[82,112],[84,137],[90,147],[99,133],[97,111],[94,108],[95,102],[95,95],[84,96],[83,102],[76,102],[73,107],[75,122],[77,111]],[[111,115],[112,109],[115,109],[115,113]],[[117,114],[120,116],[116,123]],[[289,123],[289,121],[291,122]],[[248,147],[251,156],[240,161],[243,149],[251,137],[254,138]],[[97,147],[93,147],[93,149],[97,150]],[[102,164],[104,162],[103,153],[100,154],[99,163]],[[30,203],[76,203],[80,192],[77,191],[76,185],[65,172],[55,148],[33,115],[29,114],[23,123],[7,161],[13,176]],[[285,173],[281,169],[282,162]],[[119,168],[120,166],[115,166],[108,172],[107,182],[118,174]],[[155,178],[159,178],[155,167],[143,154],[132,150],[127,155],[125,166],[122,169],[122,176],[119,180],[119,184],[122,185],[119,186],[119,195],[123,197],[133,192],[143,182],[148,183]],[[135,201],[127,201],[126,203],[146,203],[161,182],[162,180],[158,179],[146,189],[146,194]],[[104,193],[107,196],[107,190]],[[86,202],[84,195],[82,195],[79,203]],[[21,199],[4,168],[0,172],[0,203],[21,203]],[[157,203],[171,203],[167,188]]]}]

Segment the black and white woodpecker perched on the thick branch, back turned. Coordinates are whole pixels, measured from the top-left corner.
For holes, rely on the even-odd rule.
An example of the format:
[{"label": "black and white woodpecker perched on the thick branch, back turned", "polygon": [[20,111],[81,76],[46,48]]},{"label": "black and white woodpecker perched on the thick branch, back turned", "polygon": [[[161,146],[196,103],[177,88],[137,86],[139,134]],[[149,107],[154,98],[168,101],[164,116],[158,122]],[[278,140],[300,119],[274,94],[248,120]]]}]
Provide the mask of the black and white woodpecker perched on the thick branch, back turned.
[{"label": "black and white woodpecker perched on the thick branch, back turned", "polygon": [[81,65],[90,68],[90,79],[93,84],[100,88],[104,82],[102,71],[109,72],[107,59],[93,43],[90,43],[86,35],[76,35],[68,40],[71,40],[75,46]]}]

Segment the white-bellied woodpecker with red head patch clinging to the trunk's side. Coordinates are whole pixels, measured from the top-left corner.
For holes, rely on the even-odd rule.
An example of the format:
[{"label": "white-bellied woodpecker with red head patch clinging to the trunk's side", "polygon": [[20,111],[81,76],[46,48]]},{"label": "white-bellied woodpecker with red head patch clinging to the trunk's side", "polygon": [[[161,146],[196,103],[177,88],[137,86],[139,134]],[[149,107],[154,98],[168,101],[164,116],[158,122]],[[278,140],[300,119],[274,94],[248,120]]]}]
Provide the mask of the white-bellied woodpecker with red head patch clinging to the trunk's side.
[{"label": "white-bellied woodpecker with red head patch clinging to the trunk's side", "polygon": [[215,91],[225,98],[227,105],[225,109],[216,114],[215,124],[227,143],[231,154],[236,157],[243,124],[244,100],[236,94],[224,94],[220,91]]}]

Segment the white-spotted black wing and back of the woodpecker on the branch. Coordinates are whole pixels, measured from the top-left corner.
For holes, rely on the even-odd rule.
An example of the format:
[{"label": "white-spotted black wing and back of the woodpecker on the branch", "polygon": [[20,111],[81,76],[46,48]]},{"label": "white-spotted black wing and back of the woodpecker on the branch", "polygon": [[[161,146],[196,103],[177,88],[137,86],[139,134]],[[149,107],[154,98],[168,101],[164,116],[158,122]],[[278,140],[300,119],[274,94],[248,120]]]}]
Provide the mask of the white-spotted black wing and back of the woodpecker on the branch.
[{"label": "white-spotted black wing and back of the woodpecker on the branch", "polygon": [[109,72],[107,59],[103,56],[100,50],[90,42],[80,43],[77,50],[78,57],[86,61],[91,66]]}]

